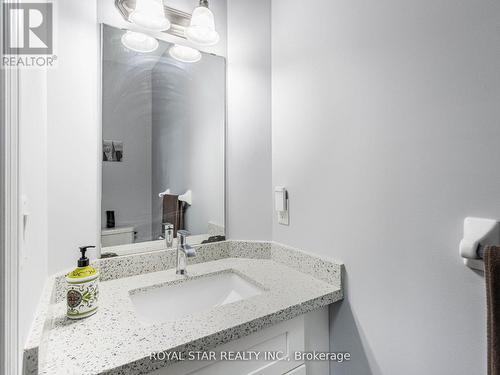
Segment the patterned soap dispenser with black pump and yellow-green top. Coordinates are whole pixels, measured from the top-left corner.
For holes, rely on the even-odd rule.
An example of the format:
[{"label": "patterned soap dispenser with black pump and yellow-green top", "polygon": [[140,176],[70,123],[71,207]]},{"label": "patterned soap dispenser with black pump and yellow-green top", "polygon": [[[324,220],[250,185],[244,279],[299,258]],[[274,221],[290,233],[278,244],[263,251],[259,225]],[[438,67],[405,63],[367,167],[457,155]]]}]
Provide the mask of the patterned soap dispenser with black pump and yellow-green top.
[{"label": "patterned soap dispenser with black pump and yellow-green top", "polygon": [[66,315],[69,319],[83,319],[97,312],[99,272],[90,266],[85,256],[87,250],[93,248],[95,246],[80,247],[82,257],[78,259],[78,268],[66,275]]}]

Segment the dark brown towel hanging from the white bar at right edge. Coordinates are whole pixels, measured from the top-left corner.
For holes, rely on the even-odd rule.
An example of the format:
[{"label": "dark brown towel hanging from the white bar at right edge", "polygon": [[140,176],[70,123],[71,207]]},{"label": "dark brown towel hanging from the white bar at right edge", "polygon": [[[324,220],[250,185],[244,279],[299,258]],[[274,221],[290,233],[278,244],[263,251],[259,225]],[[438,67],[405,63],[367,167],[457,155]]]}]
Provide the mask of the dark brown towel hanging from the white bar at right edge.
[{"label": "dark brown towel hanging from the white bar at right edge", "polygon": [[486,279],[488,375],[500,375],[500,247],[484,252]]}]

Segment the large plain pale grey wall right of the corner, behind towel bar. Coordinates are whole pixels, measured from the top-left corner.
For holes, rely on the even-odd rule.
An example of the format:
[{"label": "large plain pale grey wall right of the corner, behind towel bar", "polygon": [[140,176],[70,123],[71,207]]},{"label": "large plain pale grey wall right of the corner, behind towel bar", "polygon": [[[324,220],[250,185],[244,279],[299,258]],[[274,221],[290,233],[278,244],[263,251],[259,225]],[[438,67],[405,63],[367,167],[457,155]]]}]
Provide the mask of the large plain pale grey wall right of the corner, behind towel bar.
[{"label": "large plain pale grey wall right of the corner, behind towel bar", "polygon": [[346,264],[332,373],[484,374],[458,243],[467,215],[500,218],[500,3],[272,3],[273,239]]}]

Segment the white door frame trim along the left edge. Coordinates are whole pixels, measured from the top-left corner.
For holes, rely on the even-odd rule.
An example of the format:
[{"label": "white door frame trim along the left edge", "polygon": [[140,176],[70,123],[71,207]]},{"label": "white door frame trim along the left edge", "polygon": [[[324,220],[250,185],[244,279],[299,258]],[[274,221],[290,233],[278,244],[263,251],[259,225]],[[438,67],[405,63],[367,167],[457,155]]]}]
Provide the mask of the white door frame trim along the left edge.
[{"label": "white door frame trim along the left edge", "polygon": [[[17,3],[18,1],[9,1]],[[3,20],[1,1],[0,19]],[[2,22],[2,24],[4,24]],[[0,30],[0,61],[3,35]],[[0,68],[0,372],[19,374],[19,71]]]}]

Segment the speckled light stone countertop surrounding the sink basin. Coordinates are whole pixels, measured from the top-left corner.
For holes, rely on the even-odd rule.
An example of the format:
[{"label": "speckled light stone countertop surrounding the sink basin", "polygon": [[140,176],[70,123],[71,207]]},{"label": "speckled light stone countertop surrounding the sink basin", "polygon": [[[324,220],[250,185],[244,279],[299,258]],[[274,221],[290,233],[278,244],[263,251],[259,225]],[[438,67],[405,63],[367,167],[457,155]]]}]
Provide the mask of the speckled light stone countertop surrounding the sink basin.
[{"label": "speckled light stone countertop surrounding the sink basin", "polygon": [[[39,364],[38,372],[147,374],[170,364],[151,360],[153,352],[212,349],[342,299],[339,263],[274,244],[261,252],[265,259],[245,256],[244,246],[230,247],[226,258],[189,265],[187,278],[170,269],[101,282],[99,311],[84,320],[68,320],[65,301],[56,300],[51,304],[44,363]],[[158,324],[142,322],[130,299],[130,292],[139,288],[223,272],[237,273],[265,291]],[[319,277],[313,277],[316,273]]]}]

